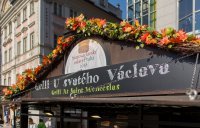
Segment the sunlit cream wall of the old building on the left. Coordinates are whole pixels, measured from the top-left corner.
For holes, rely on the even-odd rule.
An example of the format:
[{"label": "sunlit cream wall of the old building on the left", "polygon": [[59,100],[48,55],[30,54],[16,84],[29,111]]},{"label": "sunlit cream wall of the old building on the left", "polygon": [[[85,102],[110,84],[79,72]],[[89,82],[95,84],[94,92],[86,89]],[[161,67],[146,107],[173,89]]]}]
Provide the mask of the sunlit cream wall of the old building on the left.
[{"label": "sunlit cream wall of the old building on the left", "polygon": [[[39,2],[34,2],[34,13],[30,14],[31,0],[16,1],[15,7],[11,7],[8,12],[2,15],[0,24],[2,25],[2,85],[14,84],[16,75],[21,74],[27,68],[34,68],[39,64]],[[23,19],[23,10],[26,9],[26,19]],[[20,22],[17,24],[18,15]],[[12,24],[12,31],[9,33],[9,23]],[[5,28],[7,27],[7,34]],[[31,34],[34,33],[34,44],[31,48]],[[26,51],[23,47],[26,38]],[[18,42],[20,44],[20,54],[18,55]],[[11,55],[9,52],[11,50]],[[7,56],[5,57],[5,51]],[[9,59],[9,57],[11,57]],[[5,61],[7,59],[7,62]],[[11,82],[9,82],[11,79]]]}]

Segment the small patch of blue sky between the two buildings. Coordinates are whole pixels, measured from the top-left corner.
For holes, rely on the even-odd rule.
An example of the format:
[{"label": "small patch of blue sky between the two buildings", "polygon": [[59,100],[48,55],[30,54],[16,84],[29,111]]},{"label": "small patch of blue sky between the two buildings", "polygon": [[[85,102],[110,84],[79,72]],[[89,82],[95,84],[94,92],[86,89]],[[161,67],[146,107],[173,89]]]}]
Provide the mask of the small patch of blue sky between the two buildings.
[{"label": "small patch of blue sky between the two buildings", "polygon": [[120,4],[120,9],[122,10],[122,19],[126,18],[126,0],[108,0],[113,5]]}]

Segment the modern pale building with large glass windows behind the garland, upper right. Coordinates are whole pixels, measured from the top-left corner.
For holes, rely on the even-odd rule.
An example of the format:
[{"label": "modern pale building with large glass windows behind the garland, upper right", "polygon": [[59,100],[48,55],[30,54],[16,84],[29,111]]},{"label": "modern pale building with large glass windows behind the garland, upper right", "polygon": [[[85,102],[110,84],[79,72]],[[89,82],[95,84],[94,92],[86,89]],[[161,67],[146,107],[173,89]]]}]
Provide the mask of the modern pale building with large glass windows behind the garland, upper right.
[{"label": "modern pale building with large glass windows behind the garland, upper right", "polygon": [[[148,13],[144,13],[145,9]],[[196,35],[200,33],[200,0],[127,0],[127,10],[129,22],[138,19],[141,24],[157,30],[173,27]]]}]

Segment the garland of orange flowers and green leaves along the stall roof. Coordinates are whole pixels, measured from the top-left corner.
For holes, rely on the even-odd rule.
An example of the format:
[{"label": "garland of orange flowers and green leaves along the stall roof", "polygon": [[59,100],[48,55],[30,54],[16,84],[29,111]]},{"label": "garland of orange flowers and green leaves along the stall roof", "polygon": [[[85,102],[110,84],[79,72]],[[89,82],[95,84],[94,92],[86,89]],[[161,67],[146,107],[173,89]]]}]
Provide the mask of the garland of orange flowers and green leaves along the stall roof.
[{"label": "garland of orange flowers and green leaves along the stall roof", "polygon": [[[42,65],[25,70],[21,75],[18,75],[16,84],[2,90],[4,98],[10,98],[25,90],[30,83],[36,83],[37,76],[59,55],[63,55],[76,39],[81,37],[99,35],[112,40],[124,40],[133,43],[136,49],[143,48],[145,45],[153,45],[177,51],[181,51],[183,47],[190,47],[189,51],[200,52],[200,39],[195,35],[187,35],[183,30],[176,31],[170,27],[158,32],[147,25],[140,25],[137,20],[133,25],[126,21],[116,24],[98,18],[86,20],[81,14],[76,18],[67,18],[65,24],[67,30],[76,34],[67,38],[59,37],[56,48],[48,56],[43,57]],[[185,48],[183,48],[183,52],[186,50]],[[198,51],[194,51],[194,49],[198,49]]]}]

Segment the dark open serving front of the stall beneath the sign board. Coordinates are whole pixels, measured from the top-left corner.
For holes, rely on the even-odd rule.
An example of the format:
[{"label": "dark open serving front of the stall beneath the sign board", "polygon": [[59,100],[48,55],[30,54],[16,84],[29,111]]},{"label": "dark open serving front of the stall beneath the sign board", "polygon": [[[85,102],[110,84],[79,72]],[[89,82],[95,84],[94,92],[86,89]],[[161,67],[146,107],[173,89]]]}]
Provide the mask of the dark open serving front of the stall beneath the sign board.
[{"label": "dark open serving front of the stall beneath the sign board", "polygon": [[[104,99],[80,99],[75,101],[63,101],[55,105],[49,103],[37,103],[24,105],[29,111],[38,110],[45,112],[51,108],[52,115],[22,113],[22,119],[42,118],[44,121],[51,119],[51,125],[55,128],[198,128],[199,107],[179,105],[149,105],[137,104],[132,100],[127,103],[117,99],[114,103]],[[125,101],[126,100],[126,101]],[[101,101],[101,103],[97,103]],[[41,106],[46,106],[42,107]],[[26,108],[25,107],[25,108]],[[23,108],[24,109],[24,108]],[[27,121],[27,120],[26,120]],[[23,123],[25,125],[25,123]],[[25,126],[24,126],[25,127]]]}]

